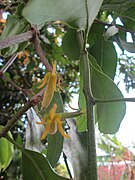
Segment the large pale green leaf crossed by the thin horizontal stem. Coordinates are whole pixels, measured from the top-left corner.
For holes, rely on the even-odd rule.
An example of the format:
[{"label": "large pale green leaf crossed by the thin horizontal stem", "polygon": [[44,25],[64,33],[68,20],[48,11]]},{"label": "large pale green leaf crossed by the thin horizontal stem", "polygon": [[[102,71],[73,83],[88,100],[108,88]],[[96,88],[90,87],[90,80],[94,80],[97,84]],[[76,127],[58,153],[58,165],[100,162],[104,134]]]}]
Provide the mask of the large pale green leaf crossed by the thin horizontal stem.
[{"label": "large pale green leaf crossed by the thin horizontal stem", "polygon": [[[93,58],[90,56],[90,58]],[[101,71],[91,66],[92,93],[99,99],[123,98],[115,83]],[[126,112],[125,102],[98,103],[95,108],[95,117],[99,130],[103,133],[113,134],[119,129]]]}]

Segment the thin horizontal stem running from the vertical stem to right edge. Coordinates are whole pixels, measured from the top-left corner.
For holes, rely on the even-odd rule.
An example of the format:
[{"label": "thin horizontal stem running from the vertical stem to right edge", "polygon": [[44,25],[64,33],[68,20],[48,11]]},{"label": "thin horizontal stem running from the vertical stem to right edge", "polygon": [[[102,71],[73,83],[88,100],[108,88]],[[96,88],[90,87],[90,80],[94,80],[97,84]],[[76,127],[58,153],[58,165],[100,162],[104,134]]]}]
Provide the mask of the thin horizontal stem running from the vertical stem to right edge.
[{"label": "thin horizontal stem running from the vertical stem to right edge", "polygon": [[95,103],[111,103],[111,102],[135,102],[135,98],[117,98],[117,99],[97,99],[95,98]]}]

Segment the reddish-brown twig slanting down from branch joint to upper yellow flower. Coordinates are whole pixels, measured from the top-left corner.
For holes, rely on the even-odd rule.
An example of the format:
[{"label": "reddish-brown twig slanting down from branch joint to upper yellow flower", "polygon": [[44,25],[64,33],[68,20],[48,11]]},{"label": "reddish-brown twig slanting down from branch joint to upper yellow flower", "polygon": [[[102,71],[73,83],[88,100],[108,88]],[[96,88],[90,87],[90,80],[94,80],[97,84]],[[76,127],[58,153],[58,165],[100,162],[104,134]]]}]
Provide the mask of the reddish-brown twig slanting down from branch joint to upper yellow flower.
[{"label": "reddish-brown twig slanting down from branch joint to upper yellow flower", "polygon": [[33,29],[35,30],[36,33],[35,33],[35,36],[32,39],[32,42],[33,42],[33,44],[35,46],[36,52],[38,53],[42,63],[46,67],[47,71],[52,72],[52,66],[49,64],[48,60],[46,59],[45,53],[44,53],[44,51],[43,51],[43,49],[42,49],[42,47],[40,45],[37,29],[36,29],[36,27],[33,27]]}]

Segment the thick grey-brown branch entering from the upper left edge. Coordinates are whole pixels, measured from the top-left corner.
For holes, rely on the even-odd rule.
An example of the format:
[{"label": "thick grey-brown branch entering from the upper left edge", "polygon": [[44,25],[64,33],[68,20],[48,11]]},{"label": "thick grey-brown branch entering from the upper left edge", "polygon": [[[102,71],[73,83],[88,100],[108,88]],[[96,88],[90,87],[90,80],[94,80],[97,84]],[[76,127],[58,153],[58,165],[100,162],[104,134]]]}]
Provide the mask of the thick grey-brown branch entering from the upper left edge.
[{"label": "thick grey-brown branch entering from the upper left edge", "polygon": [[22,34],[0,40],[0,49],[4,49],[6,47],[19,44],[24,41],[28,41],[29,39],[33,37],[33,34],[34,34],[34,31],[30,30]]}]

